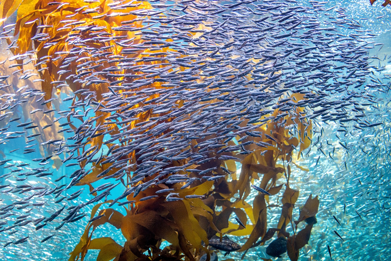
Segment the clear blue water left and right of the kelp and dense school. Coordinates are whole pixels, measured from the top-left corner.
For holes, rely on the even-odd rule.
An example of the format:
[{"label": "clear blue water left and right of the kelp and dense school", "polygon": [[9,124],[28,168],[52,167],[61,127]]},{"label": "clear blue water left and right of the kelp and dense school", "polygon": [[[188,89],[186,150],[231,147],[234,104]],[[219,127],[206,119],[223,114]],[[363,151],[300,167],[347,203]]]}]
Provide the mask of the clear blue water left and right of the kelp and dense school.
[{"label": "clear blue water left and right of the kelp and dense school", "polygon": [[[311,1],[309,1],[311,2]],[[387,7],[380,6],[382,0],[375,2],[373,6],[369,4],[367,0],[360,1],[329,1],[325,8],[332,7],[337,5],[337,7],[344,7],[346,9],[346,14],[362,25],[362,30],[368,30],[372,34],[377,36],[370,39],[376,43],[384,43],[384,45],[375,46],[374,49],[370,50],[369,55],[377,55],[379,60],[373,59],[371,64],[377,65],[378,67],[384,67],[385,70],[382,72],[376,72],[374,74],[378,78],[384,79],[384,82],[390,82],[389,75],[391,75],[391,63],[389,63],[391,56],[391,6]],[[300,5],[308,5],[307,1],[300,1]],[[326,26],[332,26],[333,24],[326,24],[328,22],[328,16],[320,12],[316,15],[319,20],[323,21],[323,24]],[[330,11],[330,16],[335,16],[335,12]],[[384,16],[378,18],[379,16]],[[352,30],[344,27],[339,27],[339,33],[341,34],[350,34]],[[368,39],[364,39],[368,40]],[[3,45],[4,42],[2,42]],[[5,54],[6,56],[11,54]],[[384,57],[386,57],[385,60]],[[4,59],[2,59],[4,60]],[[63,89],[60,94],[54,93],[54,98],[63,99],[69,96],[65,93],[69,91]],[[311,152],[307,157],[301,159],[297,163],[300,166],[305,166],[309,169],[308,172],[302,171],[298,168],[294,168],[295,176],[292,177],[291,186],[300,188],[300,196],[296,203],[294,217],[298,216],[299,209],[302,207],[310,194],[318,195],[320,199],[319,211],[317,214],[317,224],[312,229],[312,234],[308,245],[301,249],[300,261],[312,261],[312,260],[330,260],[328,256],[328,250],[326,245],[330,245],[332,250],[333,260],[387,260],[391,254],[391,241],[390,241],[390,223],[389,223],[389,211],[387,207],[390,207],[389,196],[390,190],[386,190],[387,183],[391,181],[391,176],[389,175],[389,170],[391,168],[391,163],[389,161],[391,144],[389,143],[389,123],[391,122],[391,112],[390,104],[390,94],[387,93],[373,93],[379,103],[374,106],[376,109],[373,111],[368,111],[368,114],[373,117],[373,120],[379,120],[385,123],[385,126],[375,130],[370,130],[368,133],[360,136],[350,136],[348,139],[348,144],[352,145],[352,148],[359,148],[362,144],[363,139],[366,140],[366,152],[365,159],[364,155],[361,153],[360,149],[352,149],[350,154],[344,153],[344,150],[341,149],[341,146],[338,145],[339,140],[336,138],[336,129],[338,125],[335,123],[319,123],[319,129],[323,128],[324,135],[322,137],[322,142],[333,144],[339,149],[335,152],[335,160],[327,159],[323,157],[323,154],[319,150],[312,148]],[[73,95],[73,94],[72,94]],[[68,107],[71,106],[71,101],[65,101],[58,103],[59,107],[56,107],[57,111],[66,111]],[[22,116],[20,122],[27,122],[30,118],[28,112],[23,113],[21,107],[16,107],[13,110],[12,116],[10,118],[15,118],[17,115]],[[84,113],[84,112],[82,112]],[[58,114],[54,112],[54,118],[60,117],[63,114]],[[92,112],[90,111],[92,116]],[[390,116],[389,116],[390,115]],[[58,122],[65,123],[67,120],[61,119]],[[75,122],[75,125],[81,124],[81,122]],[[7,130],[8,132],[19,131],[20,128],[11,127]],[[0,126],[3,128],[4,126]],[[67,128],[67,127],[64,127]],[[29,131],[29,134],[32,134]],[[63,139],[73,136],[72,133],[62,132]],[[104,141],[109,140],[110,136],[105,136]],[[12,141],[12,142],[11,142]],[[50,187],[55,187],[56,185],[68,185],[71,179],[63,178],[59,182],[54,182],[55,179],[61,176],[69,176],[73,172],[78,170],[78,166],[65,167],[65,164],[61,165],[56,169],[56,162],[52,159],[48,160],[47,165],[39,166],[37,161],[32,159],[41,158],[41,152],[39,150],[39,142],[32,141],[28,145],[35,143],[36,148],[35,152],[29,154],[23,154],[23,149],[27,145],[24,136],[10,140],[9,143],[0,145],[0,160],[3,159],[12,159],[2,167],[7,166],[8,164],[29,164],[31,168],[44,167],[48,169],[48,172],[53,172],[52,175],[45,176],[43,178],[36,178],[35,176],[29,176],[24,182],[29,185],[38,186],[39,184],[47,184]],[[12,144],[9,145],[9,144]],[[107,153],[108,148],[103,146],[103,153]],[[19,149],[15,152],[10,153],[11,150]],[[373,151],[373,153],[371,153]],[[360,153],[358,153],[360,152]],[[376,152],[376,153],[375,153]],[[307,153],[307,151],[305,152]],[[355,154],[356,153],[356,154]],[[99,153],[100,154],[100,153]],[[371,155],[375,156],[371,156]],[[360,158],[355,158],[355,155],[360,155]],[[381,155],[379,157],[378,155]],[[47,155],[45,155],[47,156]],[[68,156],[68,155],[66,155]],[[59,155],[61,159],[64,158],[64,154]],[[319,157],[320,160],[317,160]],[[358,156],[357,156],[358,157]],[[76,160],[69,160],[66,164],[77,163]],[[345,166],[346,163],[346,166]],[[367,165],[365,165],[366,163]],[[91,164],[91,163],[90,163]],[[23,167],[24,170],[29,170],[29,166]],[[7,173],[5,169],[0,167],[0,176]],[[91,165],[92,167],[92,165]],[[240,163],[237,163],[237,173],[240,173]],[[85,169],[90,169],[90,166],[86,166]],[[378,173],[383,173],[381,179],[372,179],[371,176],[377,177]],[[16,183],[16,175],[13,178],[0,178],[0,185],[6,183]],[[360,186],[359,180],[363,183]],[[94,183],[94,187],[102,185],[108,181],[99,180]],[[255,181],[255,184],[258,181]],[[371,183],[378,182],[377,191],[378,199],[373,201],[367,201],[362,199],[362,194],[368,192],[368,190],[373,190],[376,186],[370,186]],[[74,186],[66,191],[66,194],[63,196],[69,196],[73,192],[84,188],[84,192],[77,199],[72,201],[64,200],[60,204],[54,204],[59,198],[54,198],[54,196],[48,197],[48,202],[41,206],[36,207],[31,210],[31,213],[36,213],[39,215],[50,215],[55,210],[59,209],[62,203],[69,203],[72,205],[78,205],[82,202],[91,199],[92,196],[89,194],[88,186]],[[359,189],[358,191],[355,191]],[[123,192],[122,188],[118,190],[111,191],[110,199],[117,198]],[[361,192],[361,194],[357,194]],[[248,197],[248,203],[251,205],[252,199],[255,197],[257,192],[253,191]],[[15,196],[11,194],[1,195],[2,204],[9,204],[15,200],[20,200],[18,198],[13,198]],[[23,196],[21,196],[23,197]],[[269,204],[278,204],[280,198],[276,198],[276,201],[269,201]],[[348,202],[350,201],[350,202]],[[37,201],[39,202],[39,201]],[[347,207],[344,214],[344,204],[350,205]],[[55,208],[55,209],[54,209]],[[83,209],[86,212],[87,217],[90,217],[90,210],[92,206],[88,205]],[[125,214],[125,211],[122,207],[117,205],[113,206],[116,210]],[[371,209],[373,208],[373,209]],[[355,210],[368,210],[367,212],[361,212],[362,219],[356,214]],[[275,212],[268,212],[268,227],[276,227],[278,223],[280,212],[277,210]],[[343,223],[343,230],[340,230],[341,226],[335,223],[332,215],[335,215]],[[61,214],[60,217],[65,217],[65,214]],[[78,243],[79,238],[84,232],[84,228],[87,225],[89,218],[83,218],[75,223],[66,223],[63,228],[55,230],[55,227],[61,224],[60,221],[53,222],[48,225],[47,228],[41,229],[38,232],[34,230],[34,227],[28,225],[25,227],[18,228],[19,232],[14,235],[8,235],[5,232],[0,234],[1,244],[7,243],[9,238],[13,238],[16,235],[28,234],[29,243],[20,244],[20,245],[10,245],[7,248],[0,247],[0,258],[2,260],[67,260],[69,253],[74,249],[74,246]],[[234,216],[231,216],[232,222],[234,221]],[[60,219],[59,219],[60,220]],[[299,229],[303,228],[304,225],[300,224]],[[335,236],[333,230],[337,229],[341,232],[341,236],[344,237],[345,241],[341,241],[338,237]],[[287,227],[287,232],[292,232],[292,226]],[[7,231],[9,232],[9,231]],[[52,239],[49,239],[45,243],[40,243],[41,239],[51,234],[56,233],[56,236]],[[112,226],[105,224],[97,228],[94,232],[94,237],[105,237],[109,236],[115,239],[115,241],[124,245],[126,239],[122,236],[120,230],[113,229]],[[20,238],[20,237],[19,237]],[[232,240],[243,244],[246,242],[246,237],[243,236],[231,236]],[[270,242],[270,241],[269,241]],[[167,242],[163,242],[160,248],[163,248],[167,245]],[[265,246],[259,246],[251,249],[247,252],[244,259],[242,259],[243,253],[233,252],[230,256],[223,257],[219,256],[219,260],[224,260],[228,258],[233,258],[235,260],[260,260],[260,257],[270,258],[265,255]],[[88,255],[85,260],[96,260],[99,250],[89,250]],[[280,260],[289,260],[285,254]]]}]

